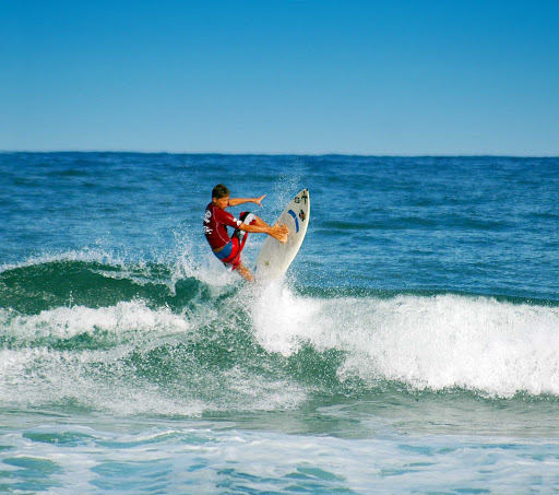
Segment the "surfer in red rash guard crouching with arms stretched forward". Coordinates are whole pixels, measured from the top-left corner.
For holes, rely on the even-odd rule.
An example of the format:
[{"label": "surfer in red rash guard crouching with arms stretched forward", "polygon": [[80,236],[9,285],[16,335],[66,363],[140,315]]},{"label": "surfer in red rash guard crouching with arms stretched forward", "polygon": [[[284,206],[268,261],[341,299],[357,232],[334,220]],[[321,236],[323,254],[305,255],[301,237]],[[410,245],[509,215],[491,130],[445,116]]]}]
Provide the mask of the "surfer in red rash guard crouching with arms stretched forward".
[{"label": "surfer in red rash guard crouching with arms stretched forward", "polygon": [[[274,226],[267,225],[262,219],[250,212],[242,212],[239,220],[225,211],[228,207],[237,207],[243,203],[254,203],[262,207],[262,200],[265,198],[230,198],[229,189],[223,184],[218,184],[212,190],[212,202],[205,209],[204,234],[214,255],[225,266],[231,270],[237,270],[239,275],[249,282],[254,281],[250,270],[242,264],[240,254],[247,241],[248,233],[267,234],[280,243],[287,243],[289,231],[285,225],[277,222]],[[235,228],[229,237],[227,227]]]}]

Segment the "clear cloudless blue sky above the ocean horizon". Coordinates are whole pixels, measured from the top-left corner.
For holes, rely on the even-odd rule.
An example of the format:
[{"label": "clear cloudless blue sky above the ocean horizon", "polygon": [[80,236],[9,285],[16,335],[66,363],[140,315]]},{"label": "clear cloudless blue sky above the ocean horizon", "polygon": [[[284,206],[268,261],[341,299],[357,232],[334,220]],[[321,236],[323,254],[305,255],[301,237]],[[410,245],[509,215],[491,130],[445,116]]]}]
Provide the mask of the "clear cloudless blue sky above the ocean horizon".
[{"label": "clear cloudless blue sky above the ocean horizon", "polygon": [[0,0],[0,150],[559,155],[559,1]]}]

